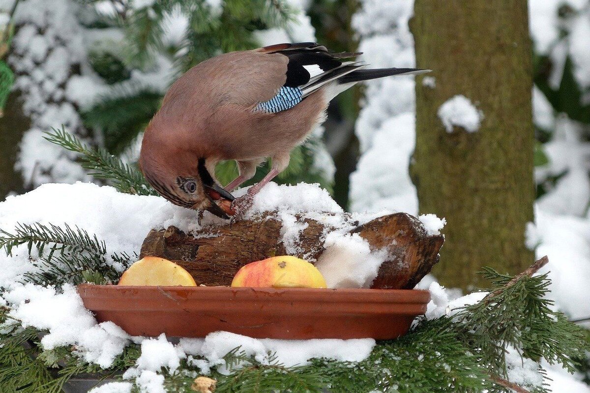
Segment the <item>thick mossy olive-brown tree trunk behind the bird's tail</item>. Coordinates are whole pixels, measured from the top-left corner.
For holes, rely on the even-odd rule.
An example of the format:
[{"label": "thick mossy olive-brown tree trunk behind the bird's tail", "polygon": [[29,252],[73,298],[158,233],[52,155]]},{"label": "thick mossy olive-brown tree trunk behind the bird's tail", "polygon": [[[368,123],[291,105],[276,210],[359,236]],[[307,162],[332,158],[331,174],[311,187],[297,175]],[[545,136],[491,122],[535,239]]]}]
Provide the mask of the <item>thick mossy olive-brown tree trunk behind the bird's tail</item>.
[{"label": "thick mossy olive-brown tree trunk behind the bird's tail", "polygon": [[[483,266],[518,273],[533,221],[532,59],[526,0],[416,0],[411,21],[416,63],[434,88],[416,83],[412,176],[421,213],[447,218],[434,273],[466,289],[486,282]],[[448,133],[437,116],[463,94],[483,111],[477,132]]]}]

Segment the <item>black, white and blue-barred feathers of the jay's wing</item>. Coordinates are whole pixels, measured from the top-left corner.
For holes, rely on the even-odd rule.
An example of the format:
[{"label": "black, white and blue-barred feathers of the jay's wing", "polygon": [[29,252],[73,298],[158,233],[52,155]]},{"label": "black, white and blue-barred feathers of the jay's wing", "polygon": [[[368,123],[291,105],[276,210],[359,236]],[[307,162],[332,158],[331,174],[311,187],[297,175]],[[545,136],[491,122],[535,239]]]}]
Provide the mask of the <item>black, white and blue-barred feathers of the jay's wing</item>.
[{"label": "black, white and blue-barred feathers of the jay's wing", "polygon": [[342,60],[358,56],[360,53],[335,53],[314,42],[277,44],[257,51],[281,54],[289,59],[286,81],[283,86],[277,86],[276,96],[254,107],[256,111],[267,113],[290,109],[325,84],[365,66],[365,63],[360,61]]}]

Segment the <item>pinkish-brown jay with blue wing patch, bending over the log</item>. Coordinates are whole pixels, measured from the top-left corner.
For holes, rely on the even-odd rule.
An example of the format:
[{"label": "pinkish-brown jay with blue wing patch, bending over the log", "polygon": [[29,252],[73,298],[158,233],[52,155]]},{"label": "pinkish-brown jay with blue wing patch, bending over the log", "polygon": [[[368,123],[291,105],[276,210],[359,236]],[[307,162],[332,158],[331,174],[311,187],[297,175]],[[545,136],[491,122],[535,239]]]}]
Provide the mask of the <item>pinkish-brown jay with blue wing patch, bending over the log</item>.
[{"label": "pinkish-brown jay with blue wing patch, bending over the log", "polygon": [[[289,165],[291,149],[326,119],[330,100],[355,83],[428,72],[362,70],[313,42],[277,44],[218,55],[183,74],[145,130],[139,165],[149,184],[175,205],[222,218],[241,215]],[[270,172],[234,200],[230,192],[271,158]],[[235,160],[239,176],[222,188],[215,165]],[[230,201],[231,207],[230,207]]]}]

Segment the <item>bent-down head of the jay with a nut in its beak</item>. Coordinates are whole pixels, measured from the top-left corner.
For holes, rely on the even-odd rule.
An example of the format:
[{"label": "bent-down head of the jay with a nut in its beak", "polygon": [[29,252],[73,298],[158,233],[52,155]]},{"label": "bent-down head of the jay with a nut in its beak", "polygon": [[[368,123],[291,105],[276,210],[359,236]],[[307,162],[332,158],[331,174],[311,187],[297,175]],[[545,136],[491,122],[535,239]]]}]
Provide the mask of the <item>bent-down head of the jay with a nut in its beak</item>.
[{"label": "bent-down head of the jay with a nut in its beak", "polygon": [[196,171],[179,173],[171,161],[154,165],[140,155],[140,168],[150,185],[175,205],[195,210],[207,210],[221,218],[230,218],[230,202],[234,196],[219,186],[199,159]]}]

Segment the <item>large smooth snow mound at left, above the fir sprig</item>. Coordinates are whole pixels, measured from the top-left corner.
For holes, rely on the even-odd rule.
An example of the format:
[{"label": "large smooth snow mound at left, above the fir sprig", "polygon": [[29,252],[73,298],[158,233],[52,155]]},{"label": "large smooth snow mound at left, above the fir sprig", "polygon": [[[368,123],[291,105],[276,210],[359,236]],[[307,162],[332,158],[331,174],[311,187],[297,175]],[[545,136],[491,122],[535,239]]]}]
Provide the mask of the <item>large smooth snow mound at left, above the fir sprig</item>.
[{"label": "large smooth snow mound at left, above the fir sprig", "polygon": [[[109,255],[139,254],[142,241],[152,228],[199,228],[196,211],[172,205],[159,196],[122,194],[110,186],[91,183],[44,184],[0,202],[0,228],[11,231],[17,223],[35,222],[68,224],[96,234],[106,243]],[[18,280],[19,274],[30,269],[27,245],[15,247],[12,257],[0,253],[0,286]]]}]

